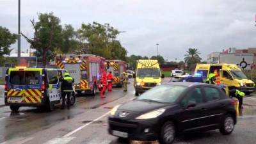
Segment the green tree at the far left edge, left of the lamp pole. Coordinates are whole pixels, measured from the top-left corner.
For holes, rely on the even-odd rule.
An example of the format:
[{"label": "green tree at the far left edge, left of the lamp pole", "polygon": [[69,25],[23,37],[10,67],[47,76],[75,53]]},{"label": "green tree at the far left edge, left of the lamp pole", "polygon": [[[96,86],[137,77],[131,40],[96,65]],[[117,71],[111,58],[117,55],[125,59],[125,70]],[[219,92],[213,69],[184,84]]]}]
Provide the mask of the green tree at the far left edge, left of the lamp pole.
[{"label": "green tree at the far left edge, left of the lamp pole", "polygon": [[16,39],[16,34],[13,34],[9,29],[0,26],[0,59],[3,60],[4,54],[10,54],[12,51],[12,49],[10,49],[10,45],[14,44]]}]

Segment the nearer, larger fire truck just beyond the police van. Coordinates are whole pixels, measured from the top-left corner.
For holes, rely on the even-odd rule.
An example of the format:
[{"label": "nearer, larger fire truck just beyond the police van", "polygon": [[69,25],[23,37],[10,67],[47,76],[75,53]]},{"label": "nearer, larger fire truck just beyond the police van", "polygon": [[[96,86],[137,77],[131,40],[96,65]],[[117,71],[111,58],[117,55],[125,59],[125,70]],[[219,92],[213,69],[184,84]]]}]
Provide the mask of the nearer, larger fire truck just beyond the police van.
[{"label": "nearer, larger fire truck just beyond the police van", "polygon": [[95,95],[100,85],[100,77],[105,69],[105,59],[92,54],[69,54],[65,58],[56,56],[56,66],[65,68],[75,79],[77,93],[90,92]]}]

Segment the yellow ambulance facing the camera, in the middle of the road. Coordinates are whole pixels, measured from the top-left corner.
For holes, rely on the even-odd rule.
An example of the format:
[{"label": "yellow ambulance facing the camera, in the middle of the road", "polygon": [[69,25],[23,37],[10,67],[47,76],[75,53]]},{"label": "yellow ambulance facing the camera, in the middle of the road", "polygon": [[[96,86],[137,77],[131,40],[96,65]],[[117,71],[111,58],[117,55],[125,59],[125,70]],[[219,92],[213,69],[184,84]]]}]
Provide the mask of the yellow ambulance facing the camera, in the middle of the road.
[{"label": "yellow ambulance facing the camera, in the middle of the road", "polygon": [[164,75],[157,60],[138,60],[134,77],[135,95],[143,93],[154,86],[160,85]]}]

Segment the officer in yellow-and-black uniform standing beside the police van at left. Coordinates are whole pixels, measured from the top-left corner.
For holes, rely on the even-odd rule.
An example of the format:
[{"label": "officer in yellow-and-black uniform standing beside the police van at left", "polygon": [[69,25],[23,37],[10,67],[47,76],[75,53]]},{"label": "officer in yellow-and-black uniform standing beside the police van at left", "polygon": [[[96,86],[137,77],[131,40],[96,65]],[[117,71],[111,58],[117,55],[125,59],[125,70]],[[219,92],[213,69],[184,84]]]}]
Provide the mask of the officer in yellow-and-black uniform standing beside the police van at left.
[{"label": "officer in yellow-and-black uniform standing beside the police van at left", "polygon": [[73,92],[73,83],[74,79],[68,74],[68,72],[65,72],[64,77],[60,79],[61,81],[61,97],[62,97],[62,107],[61,109],[65,108],[66,103],[66,95],[67,95],[67,108],[70,108],[70,96]]}]

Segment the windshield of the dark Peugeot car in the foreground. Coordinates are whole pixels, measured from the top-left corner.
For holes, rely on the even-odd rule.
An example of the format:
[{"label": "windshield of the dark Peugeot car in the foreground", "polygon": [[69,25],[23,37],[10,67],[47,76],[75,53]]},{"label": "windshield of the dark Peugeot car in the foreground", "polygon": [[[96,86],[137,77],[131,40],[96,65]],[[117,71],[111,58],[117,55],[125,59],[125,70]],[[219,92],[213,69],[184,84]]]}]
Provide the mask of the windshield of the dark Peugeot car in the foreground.
[{"label": "windshield of the dark Peugeot car in the foreground", "polygon": [[180,97],[180,94],[186,90],[186,86],[162,85],[156,86],[143,93],[138,100],[147,100],[151,102],[172,103]]}]

